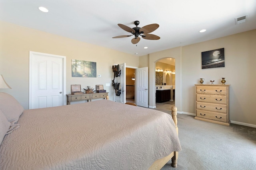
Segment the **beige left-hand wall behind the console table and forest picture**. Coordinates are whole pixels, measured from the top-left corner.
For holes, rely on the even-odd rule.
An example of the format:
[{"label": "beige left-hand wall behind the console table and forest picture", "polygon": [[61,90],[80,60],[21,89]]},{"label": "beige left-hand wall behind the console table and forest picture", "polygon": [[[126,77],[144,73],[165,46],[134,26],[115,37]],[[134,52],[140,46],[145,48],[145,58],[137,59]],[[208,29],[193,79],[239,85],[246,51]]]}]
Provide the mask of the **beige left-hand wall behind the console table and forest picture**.
[{"label": "beige left-hand wall behind the console table and forest picture", "polygon": [[[83,43],[66,37],[14,25],[0,21],[0,74],[12,89],[0,89],[14,96],[28,109],[29,96],[29,51],[66,56],[66,94],[70,94],[71,84],[81,84],[81,88],[103,84],[114,100],[112,65],[126,63],[138,67],[139,57],[112,49]],[[78,59],[97,63],[97,74],[101,78],[78,78],[71,75],[71,60]],[[106,83],[110,86],[106,87]]]}]

